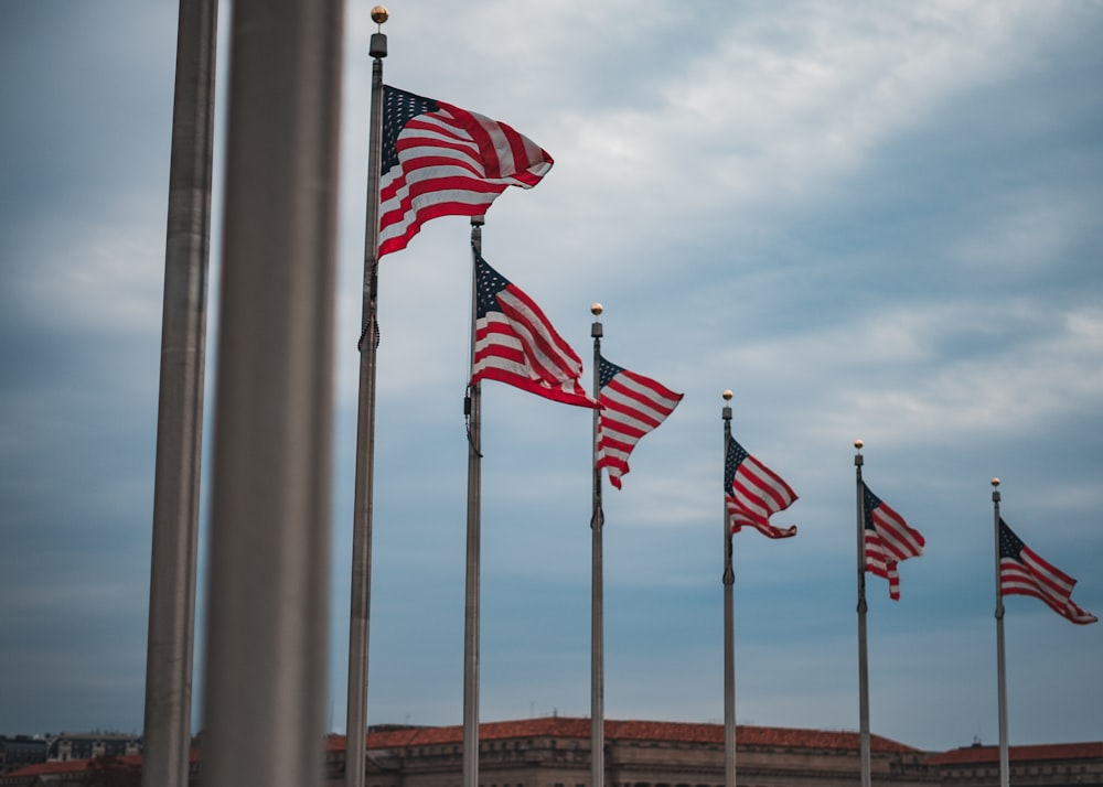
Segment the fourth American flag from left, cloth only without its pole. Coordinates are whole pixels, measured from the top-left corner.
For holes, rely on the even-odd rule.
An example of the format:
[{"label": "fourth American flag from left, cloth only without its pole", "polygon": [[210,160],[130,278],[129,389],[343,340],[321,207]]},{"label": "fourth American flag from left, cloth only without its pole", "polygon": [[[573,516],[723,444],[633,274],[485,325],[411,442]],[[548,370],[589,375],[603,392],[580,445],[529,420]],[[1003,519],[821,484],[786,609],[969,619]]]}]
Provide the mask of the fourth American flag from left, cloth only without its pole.
[{"label": "fourth American flag from left, cloth only without its pole", "polygon": [[769,538],[795,536],[795,525],[780,528],[770,524],[772,515],[785,510],[795,500],[796,493],[781,476],[728,435],[728,451],[724,460],[724,502],[728,507],[731,532],[739,532],[743,525],[750,525]]}]

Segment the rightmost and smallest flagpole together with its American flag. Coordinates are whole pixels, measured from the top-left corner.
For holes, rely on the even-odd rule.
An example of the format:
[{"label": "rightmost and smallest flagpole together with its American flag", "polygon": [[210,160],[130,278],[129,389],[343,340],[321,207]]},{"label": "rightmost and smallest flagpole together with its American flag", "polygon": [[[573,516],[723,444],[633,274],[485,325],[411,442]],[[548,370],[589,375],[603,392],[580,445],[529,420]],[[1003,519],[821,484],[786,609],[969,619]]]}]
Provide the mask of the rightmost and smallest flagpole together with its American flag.
[{"label": "rightmost and smallest flagpole together with its American flag", "polygon": [[1004,596],[1032,595],[1061,617],[1084,626],[1099,618],[1072,601],[1077,581],[1028,546],[999,516],[999,478],[992,479],[993,530],[996,552],[996,676],[999,682],[999,784],[1008,787],[1007,672],[1004,661]]}]

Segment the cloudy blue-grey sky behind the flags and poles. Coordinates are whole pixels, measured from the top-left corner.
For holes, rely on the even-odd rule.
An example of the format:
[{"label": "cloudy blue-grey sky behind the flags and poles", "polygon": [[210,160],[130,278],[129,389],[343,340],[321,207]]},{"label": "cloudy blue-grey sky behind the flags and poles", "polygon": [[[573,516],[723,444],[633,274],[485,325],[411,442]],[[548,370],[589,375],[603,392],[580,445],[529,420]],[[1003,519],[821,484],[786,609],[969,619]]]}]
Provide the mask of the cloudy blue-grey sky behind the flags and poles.
[{"label": "cloudy blue-grey sky behind the flags and poles", "polygon": [[[343,72],[334,731],[370,8],[347,7]],[[722,721],[731,389],[736,439],[800,496],[774,518],[795,538],[735,537],[739,723],[858,727],[860,438],[866,482],[927,539],[899,602],[868,582],[871,729],[997,743],[993,476],[1103,614],[1103,2],[581,9],[394,0],[384,76],[553,155],[491,207],[483,256],[587,380],[600,302],[604,356],[685,394],[604,492],[606,716]],[[0,4],[0,734],[142,729],[175,24],[164,0]],[[462,721],[469,237],[436,219],[383,260],[370,724]],[[590,432],[585,409],[483,386],[483,721],[589,714]],[[1103,626],[1006,606],[1010,743],[1103,741]]]}]

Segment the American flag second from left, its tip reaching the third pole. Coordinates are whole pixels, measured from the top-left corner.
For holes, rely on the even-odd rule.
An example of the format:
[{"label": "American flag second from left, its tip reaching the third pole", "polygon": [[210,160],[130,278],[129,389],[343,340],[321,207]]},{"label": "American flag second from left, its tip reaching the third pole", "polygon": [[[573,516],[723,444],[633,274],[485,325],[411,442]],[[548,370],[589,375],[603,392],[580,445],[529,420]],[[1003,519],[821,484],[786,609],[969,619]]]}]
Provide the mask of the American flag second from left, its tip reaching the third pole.
[{"label": "American flag second from left, its tip reaching the third pole", "polygon": [[567,405],[599,407],[581,377],[581,359],[540,308],[476,255],[471,382],[499,380]]}]

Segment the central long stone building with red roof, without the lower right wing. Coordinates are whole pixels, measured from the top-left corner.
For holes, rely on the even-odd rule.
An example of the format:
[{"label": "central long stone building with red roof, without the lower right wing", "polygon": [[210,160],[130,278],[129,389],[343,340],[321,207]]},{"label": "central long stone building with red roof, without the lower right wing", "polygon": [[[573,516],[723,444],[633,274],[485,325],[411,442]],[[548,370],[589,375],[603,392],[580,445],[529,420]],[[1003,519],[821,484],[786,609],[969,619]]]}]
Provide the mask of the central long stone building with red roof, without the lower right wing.
[{"label": "central long stone building with red roof, without the lower right wing", "polygon": [[[368,787],[460,787],[462,727],[373,731],[367,739]],[[856,732],[740,725],[738,784],[753,787],[836,787],[860,783]],[[483,787],[587,787],[590,720],[549,716],[480,725]],[[344,778],[344,739],[330,740],[328,784]],[[927,753],[879,735],[870,740],[874,781],[899,787],[939,784]],[[720,787],[724,725],[607,721],[608,787]]]}]

